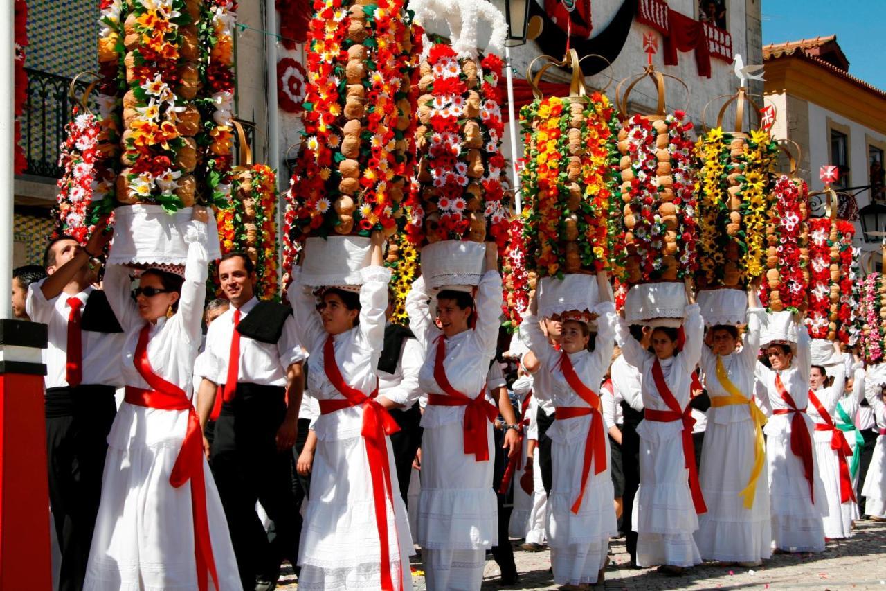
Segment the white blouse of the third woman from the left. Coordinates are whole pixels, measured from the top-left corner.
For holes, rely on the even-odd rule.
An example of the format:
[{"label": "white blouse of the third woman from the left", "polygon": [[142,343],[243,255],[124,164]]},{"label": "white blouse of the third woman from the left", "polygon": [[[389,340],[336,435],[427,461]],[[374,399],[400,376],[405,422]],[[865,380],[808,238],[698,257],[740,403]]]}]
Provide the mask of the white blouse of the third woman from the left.
[{"label": "white blouse of the third woman from the left", "polygon": [[[443,333],[434,326],[429,305],[430,296],[424,288],[424,278],[417,279],[406,298],[409,328],[424,349],[424,365],[418,374],[418,384],[428,394],[445,394],[434,378],[434,359],[437,338]],[[489,270],[480,278],[474,299],[477,324],[446,339],[446,358],[443,367],[455,390],[468,398],[483,396],[489,362],[495,357],[501,317],[501,275]],[[422,426],[440,427],[450,422],[462,422],[464,406],[428,405],[422,416]]]}]

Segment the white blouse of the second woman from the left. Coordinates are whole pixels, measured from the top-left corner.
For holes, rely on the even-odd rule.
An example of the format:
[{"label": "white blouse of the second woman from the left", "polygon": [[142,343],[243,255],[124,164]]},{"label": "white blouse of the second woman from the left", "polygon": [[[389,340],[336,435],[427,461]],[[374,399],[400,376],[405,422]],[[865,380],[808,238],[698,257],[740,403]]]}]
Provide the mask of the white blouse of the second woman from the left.
[{"label": "white blouse of the second woman from the left", "polygon": [[[385,309],[391,271],[370,266],[361,269],[360,322],[350,330],[334,335],[332,347],[345,383],[366,396],[378,386],[376,366],[385,344]],[[329,336],[316,310],[316,300],[309,286],[301,283],[301,267],[292,269],[289,299],[295,314],[299,340],[308,348],[307,392],[318,400],[344,399],[326,377],[323,368],[323,345]],[[312,426],[318,439],[335,441],[360,437],[363,407],[350,406],[330,414],[321,414]]]}]

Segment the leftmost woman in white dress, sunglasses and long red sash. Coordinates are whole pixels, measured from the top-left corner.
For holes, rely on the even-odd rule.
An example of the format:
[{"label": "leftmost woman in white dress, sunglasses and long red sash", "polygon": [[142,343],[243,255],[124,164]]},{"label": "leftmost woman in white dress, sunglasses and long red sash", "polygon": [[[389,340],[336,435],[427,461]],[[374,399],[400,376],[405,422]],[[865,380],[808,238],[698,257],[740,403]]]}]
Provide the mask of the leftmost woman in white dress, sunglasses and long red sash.
[{"label": "leftmost woman in white dress, sunglasses and long red sash", "polygon": [[242,588],[190,402],[206,297],[206,209],[195,208],[193,219],[184,278],[149,269],[133,301],[128,269],[105,272],[108,303],[127,333],[127,385],[108,435],[85,589]]}]

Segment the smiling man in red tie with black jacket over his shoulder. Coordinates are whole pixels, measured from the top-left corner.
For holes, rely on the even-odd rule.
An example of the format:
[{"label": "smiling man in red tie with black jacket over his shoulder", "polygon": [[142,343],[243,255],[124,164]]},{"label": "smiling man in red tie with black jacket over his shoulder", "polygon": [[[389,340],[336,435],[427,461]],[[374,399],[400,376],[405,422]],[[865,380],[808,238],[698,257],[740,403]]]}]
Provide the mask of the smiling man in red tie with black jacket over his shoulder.
[{"label": "smiling man in red tie with black jacket over his shoulder", "polygon": [[[198,414],[205,426],[222,386],[210,451],[215,483],[243,587],[273,588],[283,559],[294,564],[298,558],[291,448],[304,389],[305,354],[291,309],[254,296],[255,268],[248,256],[229,253],[222,257],[218,273],[231,305],[206,333],[212,363],[205,364]],[[256,500],[274,522],[273,542],[255,511]]]}]

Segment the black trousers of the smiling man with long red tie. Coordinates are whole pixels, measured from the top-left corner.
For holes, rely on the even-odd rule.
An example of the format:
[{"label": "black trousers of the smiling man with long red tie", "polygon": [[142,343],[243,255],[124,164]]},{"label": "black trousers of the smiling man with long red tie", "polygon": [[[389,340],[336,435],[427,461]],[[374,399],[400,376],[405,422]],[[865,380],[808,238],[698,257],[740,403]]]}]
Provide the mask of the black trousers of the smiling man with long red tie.
[{"label": "black trousers of the smiling man with long red tie", "polygon": [[[276,580],[284,558],[298,556],[292,453],[276,449],[285,414],[284,388],[241,383],[215,422],[212,469],[245,589],[255,587],[257,576]],[[256,501],[274,522],[273,540],[255,512]]]}]

